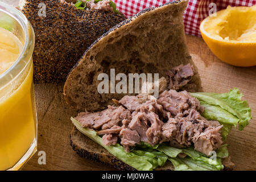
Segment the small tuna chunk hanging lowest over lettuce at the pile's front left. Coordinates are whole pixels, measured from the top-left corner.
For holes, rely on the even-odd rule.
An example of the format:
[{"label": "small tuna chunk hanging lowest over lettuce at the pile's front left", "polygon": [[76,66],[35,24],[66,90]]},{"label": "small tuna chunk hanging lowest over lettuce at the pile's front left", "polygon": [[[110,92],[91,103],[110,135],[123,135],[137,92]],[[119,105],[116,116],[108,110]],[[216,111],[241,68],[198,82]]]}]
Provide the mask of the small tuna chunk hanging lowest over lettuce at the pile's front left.
[{"label": "small tuna chunk hanging lowest over lettuce at the pile's front left", "polygon": [[129,152],[130,146],[135,146],[135,144],[141,142],[141,137],[139,137],[136,130],[122,129],[119,137],[121,138],[121,144],[125,147],[126,152]]}]

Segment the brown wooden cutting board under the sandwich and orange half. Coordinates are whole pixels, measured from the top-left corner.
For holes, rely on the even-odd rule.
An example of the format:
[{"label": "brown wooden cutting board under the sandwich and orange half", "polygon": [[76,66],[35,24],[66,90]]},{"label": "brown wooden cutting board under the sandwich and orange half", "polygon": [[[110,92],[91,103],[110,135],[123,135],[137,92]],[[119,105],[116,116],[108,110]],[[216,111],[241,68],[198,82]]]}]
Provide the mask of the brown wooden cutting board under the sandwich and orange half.
[{"label": "brown wooden cutting board under the sandwich and orange half", "polygon": [[[187,36],[189,52],[199,68],[205,92],[228,92],[238,87],[249,102],[253,119],[243,131],[228,137],[229,153],[236,170],[256,170],[256,67],[238,68],[222,63],[203,39]],[[46,165],[38,164],[38,152],[23,170],[112,170],[114,168],[80,158],[69,144],[71,116],[76,111],[63,100],[63,84],[35,85],[38,110],[38,151],[46,152]]]}]

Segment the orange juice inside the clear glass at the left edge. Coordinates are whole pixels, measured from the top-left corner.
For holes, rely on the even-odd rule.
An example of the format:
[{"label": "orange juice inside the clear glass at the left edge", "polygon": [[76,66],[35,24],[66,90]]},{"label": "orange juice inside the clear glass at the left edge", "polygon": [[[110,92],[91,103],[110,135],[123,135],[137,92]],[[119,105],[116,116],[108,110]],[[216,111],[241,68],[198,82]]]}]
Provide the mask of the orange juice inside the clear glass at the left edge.
[{"label": "orange juice inside the clear glass at the left edge", "polygon": [[[23,44],[0,28],[0,76],[19,57]],[[0,170],[22,166],[23,156],[36,142],[36,118],[32,85],[32,61],[4,89],[0,88]],[[36,150],[36,144],[32,153]],[[28,157],[29,158],[29,157]],[[22,160],[20,160],[22,159]],[[19,169],[20,166],[14,169]]]}]

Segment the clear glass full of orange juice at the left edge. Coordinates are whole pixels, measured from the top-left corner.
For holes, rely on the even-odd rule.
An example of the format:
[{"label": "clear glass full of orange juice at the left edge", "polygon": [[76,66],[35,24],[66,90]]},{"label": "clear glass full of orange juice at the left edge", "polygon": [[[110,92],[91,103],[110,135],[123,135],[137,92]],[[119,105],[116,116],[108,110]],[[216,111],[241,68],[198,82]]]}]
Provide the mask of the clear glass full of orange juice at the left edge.
[{"label": "clear glass full of orange juice at the left edge", "polygon": [[20,169],[36,152],[34,45],[26,16],[0,2],[0,170]]}]

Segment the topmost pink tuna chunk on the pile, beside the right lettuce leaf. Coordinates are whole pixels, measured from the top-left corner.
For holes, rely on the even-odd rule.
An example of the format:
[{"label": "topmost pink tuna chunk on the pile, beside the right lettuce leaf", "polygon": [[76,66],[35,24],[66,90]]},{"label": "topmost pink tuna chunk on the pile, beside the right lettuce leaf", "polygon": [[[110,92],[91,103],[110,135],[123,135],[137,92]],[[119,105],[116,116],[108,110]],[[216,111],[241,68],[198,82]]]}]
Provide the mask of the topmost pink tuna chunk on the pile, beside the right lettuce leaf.
[{"label": "topmost pink tuna chunk on the pile, beside the right lettuce leaf", "polygon": [[173,117],[187,117],[192,109],[202,110],[199,100],[190,96],[187,91],[164,91],[158,97],[158,103],[163,105],[163,109],[170,112]]}]

